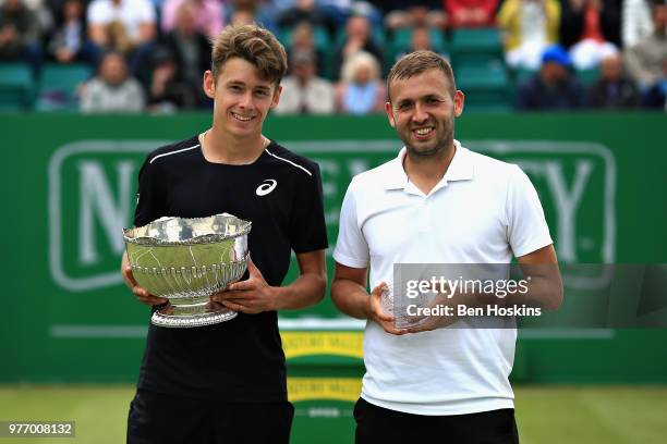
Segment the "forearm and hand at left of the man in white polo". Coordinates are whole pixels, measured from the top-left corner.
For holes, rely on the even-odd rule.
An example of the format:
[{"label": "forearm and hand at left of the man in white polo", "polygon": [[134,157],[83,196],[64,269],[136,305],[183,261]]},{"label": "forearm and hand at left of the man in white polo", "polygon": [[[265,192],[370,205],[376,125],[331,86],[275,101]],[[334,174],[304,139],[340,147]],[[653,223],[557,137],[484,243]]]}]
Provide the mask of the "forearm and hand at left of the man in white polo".
[{"label": "forearm and hand at left of the man in white polo", "polygon": [[377,322],[387,333],[404,334],[404,330],[393,326],[393,316],[385,312],[380,303],[386,284],[383,282],[366,293],[367,268],[356,269],[336,262],[331,299],[340,311],[356,319]]}]

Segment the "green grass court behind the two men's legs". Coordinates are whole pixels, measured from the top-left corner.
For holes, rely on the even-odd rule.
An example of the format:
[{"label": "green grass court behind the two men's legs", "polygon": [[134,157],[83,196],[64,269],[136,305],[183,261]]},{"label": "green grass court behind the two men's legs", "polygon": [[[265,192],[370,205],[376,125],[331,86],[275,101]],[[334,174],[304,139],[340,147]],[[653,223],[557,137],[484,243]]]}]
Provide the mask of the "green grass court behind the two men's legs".
[{"label": "green grass court behind the two men's legs", "polygon": [[[522,444],[663,444],[667,436],[664,385],[527,385],[514,390]],[[123,443],[133,391],[132,385],[0,386],[0,420],[76,421],[75,439],[0,442]]]}]

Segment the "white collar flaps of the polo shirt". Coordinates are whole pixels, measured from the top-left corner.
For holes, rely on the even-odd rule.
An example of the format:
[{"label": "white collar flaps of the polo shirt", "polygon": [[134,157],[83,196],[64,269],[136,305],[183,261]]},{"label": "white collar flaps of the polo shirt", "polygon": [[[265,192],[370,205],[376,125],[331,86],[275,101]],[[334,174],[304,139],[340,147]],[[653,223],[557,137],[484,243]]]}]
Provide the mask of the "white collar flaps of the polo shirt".
[{"label": "white collar flaps of the polo shirt", "polygon": [[[463,148],[459,140],[454,140],[456,152],[451,159],[451,163],[442,177],[442,185],[450,181],[472,181],[474,177],[473,162],[468,148]],[[404,189],[408,186],[408,174],[403,169],[403,160],[405,159],[407,148],[403,147],[399,151],[396,159],[389,161],[387,171],[384,177],[384,189]],[[438,186],[439,187],[439,186]]]}]

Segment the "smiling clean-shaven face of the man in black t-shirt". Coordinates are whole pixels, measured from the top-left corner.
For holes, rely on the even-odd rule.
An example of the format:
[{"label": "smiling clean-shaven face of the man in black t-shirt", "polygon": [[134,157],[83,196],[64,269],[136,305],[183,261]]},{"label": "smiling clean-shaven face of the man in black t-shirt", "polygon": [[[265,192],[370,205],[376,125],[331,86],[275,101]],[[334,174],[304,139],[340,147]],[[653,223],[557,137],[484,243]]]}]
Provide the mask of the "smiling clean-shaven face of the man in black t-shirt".
[{"label": "smiling clean-shaven face of the man in black t-shirt", "polygon": [[204,91],[214,99],[214,126],[240,138],[262,134],[264,119],[278,104],[280,90],[241,58],[226,61],[217,81],[210,71],[204,75]]}]

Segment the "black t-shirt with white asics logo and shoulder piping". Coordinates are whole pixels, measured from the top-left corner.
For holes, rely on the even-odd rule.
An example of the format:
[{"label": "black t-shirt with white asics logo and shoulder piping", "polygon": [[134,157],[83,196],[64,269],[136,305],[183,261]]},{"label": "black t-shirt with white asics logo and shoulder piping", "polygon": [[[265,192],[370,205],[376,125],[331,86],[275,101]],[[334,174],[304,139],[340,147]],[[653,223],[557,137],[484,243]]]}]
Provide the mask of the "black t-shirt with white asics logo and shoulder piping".
[{"label": "black t-shirt with white asics logo and shoulder piping", "polygon": [[[252,222],[250,254],[269,285],[282,283],[291,250],[327,248],[315,162],[271,141],[252,164],[211,163],[197,137],[148,155],[140,172],[136,226],[166,215],[221,212]],[[287,399],[277,312],[239,313],[192,329],[150,325],[138,387],[222,402]]]}]

